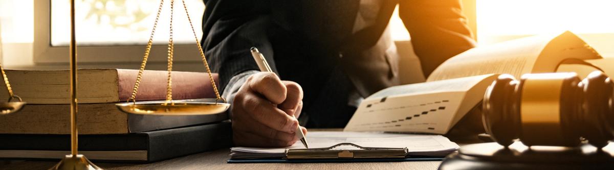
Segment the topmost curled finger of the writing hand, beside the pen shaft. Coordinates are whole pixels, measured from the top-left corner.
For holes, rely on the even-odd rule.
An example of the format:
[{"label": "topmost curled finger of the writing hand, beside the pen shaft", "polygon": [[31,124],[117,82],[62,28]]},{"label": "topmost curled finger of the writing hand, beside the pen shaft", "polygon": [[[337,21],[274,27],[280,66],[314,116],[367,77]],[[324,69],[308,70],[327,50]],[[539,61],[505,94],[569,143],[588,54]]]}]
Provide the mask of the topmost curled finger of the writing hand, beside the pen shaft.
[{"label": "topmost curled finger of the writing hand, beside the pen shaft", "polygon": [[286,86],[273,72],[260,72],[247,78],[247,86],[257,94],[263,95],[273,104],[286,100]]}]

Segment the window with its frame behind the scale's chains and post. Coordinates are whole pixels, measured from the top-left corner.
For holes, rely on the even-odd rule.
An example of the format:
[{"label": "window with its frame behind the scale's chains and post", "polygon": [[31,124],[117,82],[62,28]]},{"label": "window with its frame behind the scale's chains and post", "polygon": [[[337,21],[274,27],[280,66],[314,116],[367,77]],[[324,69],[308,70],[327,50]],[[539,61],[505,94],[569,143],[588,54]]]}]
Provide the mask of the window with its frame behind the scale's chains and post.
[{"label": "window with its frame behind the scale's chains and post", "polygon": [[[204,4],[185,0],[192,24],[200,39]],[[76,0],[76,36],[80,63],[140,62],[153,28],[159,0]],[[166,62],[169,4],[165,1],[154,37],[149,61]],[[69,1],[47,0],[34,3],[33,60],[36,64],[68,62]],[[192,28],[181,0],[174,2],[173,40],[175,61],[201,63]],[[202,65],[202,64],[200,64]]]}]

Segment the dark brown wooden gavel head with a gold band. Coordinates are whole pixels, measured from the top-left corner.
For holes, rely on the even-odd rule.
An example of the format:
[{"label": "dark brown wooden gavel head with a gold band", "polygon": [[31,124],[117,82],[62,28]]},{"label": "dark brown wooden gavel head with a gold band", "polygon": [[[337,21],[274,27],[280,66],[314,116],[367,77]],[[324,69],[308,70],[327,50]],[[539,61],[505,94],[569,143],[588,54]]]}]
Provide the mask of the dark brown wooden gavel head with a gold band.
[{"label": "dark brown wooden gavel head with a gold band", "polygon": [[482,119],[497,143],[604,147],[614,139],[614,83],[596,71],[500,75],[484,94]]}]

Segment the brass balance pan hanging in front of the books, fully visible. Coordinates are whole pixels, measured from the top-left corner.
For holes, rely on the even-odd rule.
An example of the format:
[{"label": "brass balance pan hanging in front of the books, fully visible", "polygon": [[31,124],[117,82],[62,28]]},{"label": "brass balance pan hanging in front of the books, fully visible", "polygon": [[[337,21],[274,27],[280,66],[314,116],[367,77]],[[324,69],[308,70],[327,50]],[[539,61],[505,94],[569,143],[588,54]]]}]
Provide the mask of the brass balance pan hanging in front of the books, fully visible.
[{"label": "brass balance pan hanging in front of the books, fully visible", "polygon": [[125,113],[163,116],[218,114],[230,108],[230,104],[228,103],[195,101],[198,100],[179,100],[166,105],[165,101],[128,102],[118,103],[115,104],[115,106]]}]

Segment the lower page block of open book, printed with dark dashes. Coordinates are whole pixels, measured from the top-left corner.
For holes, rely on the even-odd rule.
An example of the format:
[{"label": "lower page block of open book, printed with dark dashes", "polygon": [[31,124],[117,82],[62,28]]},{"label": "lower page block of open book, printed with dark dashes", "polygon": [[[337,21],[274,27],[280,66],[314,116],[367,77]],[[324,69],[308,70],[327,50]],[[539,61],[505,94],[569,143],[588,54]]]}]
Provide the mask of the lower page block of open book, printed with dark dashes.
[{"label": "lower page block of open book, printed with dark dashes", "polygon": [[445,134],[481,101],[496,76],[389,87],[365,98],[344,130]]}]

